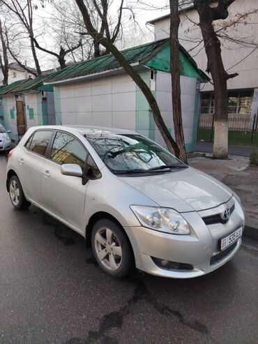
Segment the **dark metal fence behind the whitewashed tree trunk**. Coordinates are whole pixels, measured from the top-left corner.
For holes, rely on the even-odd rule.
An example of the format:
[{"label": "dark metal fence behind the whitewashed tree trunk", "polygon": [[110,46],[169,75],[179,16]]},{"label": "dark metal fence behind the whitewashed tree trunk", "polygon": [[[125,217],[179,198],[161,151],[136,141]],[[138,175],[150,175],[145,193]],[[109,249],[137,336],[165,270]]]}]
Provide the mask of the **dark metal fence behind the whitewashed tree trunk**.
[{"label": "dark metal fence behind the whitewashed tree trunk", "polygon": [[[204,115],[199,119],[197,141],[213,142],[214,117]],[[229,117],[229,144],[258,146],[258,118],[251,116]]]}]

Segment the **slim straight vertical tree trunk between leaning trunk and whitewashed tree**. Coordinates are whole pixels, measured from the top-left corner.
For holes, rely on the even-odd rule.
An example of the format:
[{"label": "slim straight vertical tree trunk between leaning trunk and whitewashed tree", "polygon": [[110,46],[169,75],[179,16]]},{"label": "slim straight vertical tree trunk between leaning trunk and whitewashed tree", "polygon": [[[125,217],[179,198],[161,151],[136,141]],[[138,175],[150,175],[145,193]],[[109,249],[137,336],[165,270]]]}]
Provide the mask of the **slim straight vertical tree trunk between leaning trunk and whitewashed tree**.
[{"label": "slim straight vertical tree trunk between leaning trunk and whitewashed tree", "polygon": [[176,154],[187,163],[181,112],[180,61],[179,61],[179,0],[170,0],[170,59],[172,78],[172,108],[174,132],[179,152]]}]

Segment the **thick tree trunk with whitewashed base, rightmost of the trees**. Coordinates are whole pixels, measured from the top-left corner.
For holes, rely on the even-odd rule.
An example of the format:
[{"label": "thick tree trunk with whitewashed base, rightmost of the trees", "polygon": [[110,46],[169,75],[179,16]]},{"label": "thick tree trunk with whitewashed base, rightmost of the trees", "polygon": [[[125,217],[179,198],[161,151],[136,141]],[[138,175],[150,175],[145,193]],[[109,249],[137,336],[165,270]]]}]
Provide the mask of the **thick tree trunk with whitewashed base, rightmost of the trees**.
[{"label": "thick tree trunk with whitewashed base, rightmost of the trees", "polygon": [[[234,75],[228,75],[225,71],[220,49],[220,40],[218,39],[213,20],[225,19],[227,17],[227,8],[220,12],[220,17],[215,10],[208,6],[207,2],[195,0],[197,12],[199,13],[199,25],[202,30],[204,47],[208,59],[207,72],[211,73],[214,87],[214,144],[213,158],[228,158],[228,111],[227,111],[227,80]],[[226,6],[227,7],[227,6]],[[213,15],[214,13],[214,15]]]}]

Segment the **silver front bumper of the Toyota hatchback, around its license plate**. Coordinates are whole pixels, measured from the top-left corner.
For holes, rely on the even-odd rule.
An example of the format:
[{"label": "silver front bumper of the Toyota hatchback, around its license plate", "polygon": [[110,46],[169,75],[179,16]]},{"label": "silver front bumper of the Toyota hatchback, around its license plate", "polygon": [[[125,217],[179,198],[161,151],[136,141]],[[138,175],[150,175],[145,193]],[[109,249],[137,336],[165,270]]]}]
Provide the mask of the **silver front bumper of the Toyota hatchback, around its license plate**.
[{"label": "silver front bumper of the Toyota hatchback, around its license plate", "polygon": [[[240,238],[222,255],[218,247],[220,238],[244,226],[243,209],[236,199],[234,202],[235,209],[225,224],[207,226],[197,212],[182,214],[192,227],[189,235],[166,234],[145,227],[126,227],[135,253],[136,267],[149,274],[170,278],[192,278],[218,269],[232,259],[241,246]],[[155,264],[152,257],[190,264],[192,269],[163,269]]]}]

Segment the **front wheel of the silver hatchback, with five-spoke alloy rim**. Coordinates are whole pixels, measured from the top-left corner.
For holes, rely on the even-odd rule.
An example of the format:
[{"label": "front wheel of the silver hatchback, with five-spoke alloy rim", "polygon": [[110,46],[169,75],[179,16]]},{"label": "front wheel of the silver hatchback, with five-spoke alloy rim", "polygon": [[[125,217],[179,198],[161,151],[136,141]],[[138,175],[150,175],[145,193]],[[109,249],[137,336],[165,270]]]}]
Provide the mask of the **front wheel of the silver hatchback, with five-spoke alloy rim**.
[{"label": "front wheel of the silver hatchback, with five-spoke alloy rim", "polygon": [[105,273],[123,278],[133,267],[132,248],[121,227],[109,219],[98,220],[91,232],[91,248]]}]

